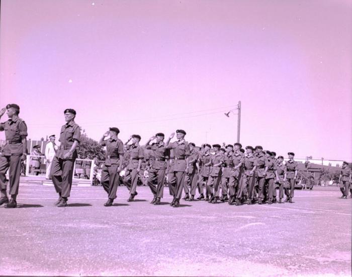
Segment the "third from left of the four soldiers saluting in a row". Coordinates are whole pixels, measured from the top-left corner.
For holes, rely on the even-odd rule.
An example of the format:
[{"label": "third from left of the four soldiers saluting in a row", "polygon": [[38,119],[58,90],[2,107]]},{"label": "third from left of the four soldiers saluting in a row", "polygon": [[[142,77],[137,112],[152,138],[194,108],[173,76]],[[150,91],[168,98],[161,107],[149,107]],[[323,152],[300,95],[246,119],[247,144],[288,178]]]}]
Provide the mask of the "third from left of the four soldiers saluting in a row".
[{"label": "third from left of the four soldiers saluting in a row", "polygon": [[[157,133],[151,137],[145,144],[146,149],[150,149],[153,153],[152,164],[148,170],[148,186],[154,196],[151,204],[160,205],[160,199],[163,197],[166,171],[166,155],[167,149],[164,143],[165,135]],[[156,140],[150,145],[150,142]],[[155,185],[156,181],[156,185]]]}]

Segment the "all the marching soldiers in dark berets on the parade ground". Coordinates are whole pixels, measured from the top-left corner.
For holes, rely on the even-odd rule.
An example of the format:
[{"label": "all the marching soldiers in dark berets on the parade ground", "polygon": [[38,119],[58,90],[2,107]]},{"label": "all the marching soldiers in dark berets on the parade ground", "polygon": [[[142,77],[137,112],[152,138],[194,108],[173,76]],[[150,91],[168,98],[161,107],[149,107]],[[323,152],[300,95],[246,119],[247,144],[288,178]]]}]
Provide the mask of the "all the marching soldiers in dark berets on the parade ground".
[{"label": "all the marching soldiers in dark berets on the parade ground", "polygon": [[[21,160],[27,155],[27,126],[18,117],[20,107],[9,104],[0,111],[0,118],[7,112],[9,120],[0,123],[0,131],[5,131],[6,145],[0,156],[0,205],[5,208],[16,208],[19,189]],[[77,146],[80,142],[80,128],[74,119],[73,109],[64,111],[65,124],[60,130],[60,146],[52,160],[50,177],[54,183],[58,200],[57,207],[66,207],[72,186],[73,166],[77,158]],[[129,202],[137,195],[137,181],[142,169],[144,151],[140,146],[141,136],[132,135],[123,144],[118,138],[120,130],[112,127],[100,139],[100,144],[106,146],[101,183],[108,195],[106,207],[113,206],[117,188],[120,182],[120,172],[123,169],[124,156],[128,156],[123,183],[130,192]],[[151,204],[160,205],[163,197],[166,171],[168,174],[169,193],[173,197],[170,205],[180,207],[182,192],[185,191],[185,201],[195,201],[198,188],[198,201],[209,203],[228,202],[229,205],[273,204],[277,202],[276,187],[279,186],[279,201],[292,203],[294,186],[297,178],[297,162],[295,154],[288,153],[289,160],[284,164],[284,157],[273,151],[263,151],[261,146],[246,146],[240,143],[228,144],[222,148],[219,144],[203,144],[200,151],[194,143],[186,141],[186,131],[176,130],[177,139],[172,133],[164,142],[164,134],[157,133],[146,143],[145,148],[152,152],[148,169],[147,184],[153,199]],[[131,144],[128,144],[132,141]],[[154,141],[154,142],[153,142]],[[213,150],[211,151],[211,148]],[[170,150],[173,160],[170,159]],[[213,152],[213,153],[211,153]],[[10,180],[6,178],[9,169]],[[168,170],[167,170],[168,169]],[[344,162],[340,180],[343,198],[347,198],[351,171]],[[7,184],[10,185],[11,199],[7,196]],[[189,189],[190,188],[190,189]],[[221,197],[220,197],[221,189]]]}]

